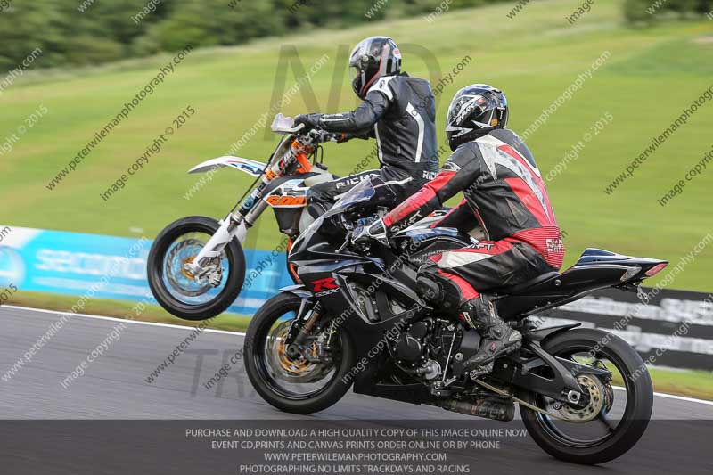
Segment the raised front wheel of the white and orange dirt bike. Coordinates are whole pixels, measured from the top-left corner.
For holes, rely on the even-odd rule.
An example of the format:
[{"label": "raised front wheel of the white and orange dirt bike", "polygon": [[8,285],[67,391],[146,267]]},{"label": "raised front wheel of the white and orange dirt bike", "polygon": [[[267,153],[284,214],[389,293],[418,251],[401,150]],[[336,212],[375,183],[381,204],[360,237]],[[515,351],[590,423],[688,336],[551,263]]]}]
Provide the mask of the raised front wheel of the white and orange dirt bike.
[{"label": "raised front wheel of the white and orange dirt bike", "polygon": [[206,266],[201,278],[185,270],[219,225],[210,217],[184,217],[168,225],[153,242],[146,273],[153,297],[168,313],[184,320],[219,315],[238,297],[245,279],[245,257],[231,240]]}]

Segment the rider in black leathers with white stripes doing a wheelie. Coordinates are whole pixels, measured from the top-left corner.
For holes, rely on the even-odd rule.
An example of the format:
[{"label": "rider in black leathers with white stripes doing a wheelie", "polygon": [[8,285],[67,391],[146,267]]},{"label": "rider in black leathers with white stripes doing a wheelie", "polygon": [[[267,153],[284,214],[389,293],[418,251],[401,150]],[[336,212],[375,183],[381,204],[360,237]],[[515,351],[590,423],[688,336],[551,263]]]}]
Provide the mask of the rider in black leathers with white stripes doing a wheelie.
[{"label": "rider in black leathers with white stripes doing a wheelie", "polygon": [[352,88],[364,102],[340,114],[304,114],[295,126],[338,134],[338,142],[376,138],[380,170],[316,184],[308,210],[319,217],[365,177],[372,178],[381,206],[391,209],[438,172],[435,98],[428,81],[401,72],[401,53],[389,37],[368,37],[349,57]]}]

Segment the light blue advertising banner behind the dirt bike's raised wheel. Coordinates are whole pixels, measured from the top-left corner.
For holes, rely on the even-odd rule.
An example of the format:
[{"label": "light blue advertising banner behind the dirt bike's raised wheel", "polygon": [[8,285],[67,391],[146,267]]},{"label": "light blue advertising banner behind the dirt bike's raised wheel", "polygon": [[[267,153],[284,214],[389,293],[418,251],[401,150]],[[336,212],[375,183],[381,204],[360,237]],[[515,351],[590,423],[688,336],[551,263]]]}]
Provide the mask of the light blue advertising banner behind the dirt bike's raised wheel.
[{"label": "light blue advertising banner behind the dirt bike's raised wheel", "polygon": [[[96,299],[151,299],[147,238],[66,233],[0,226],[0,286],[20,291],[86,295]],[[284,250],[245,250],[248,265],[243,290],[229,311],[251,315],[280,287]],[[153,300],[155,303],[155,300]]]}]

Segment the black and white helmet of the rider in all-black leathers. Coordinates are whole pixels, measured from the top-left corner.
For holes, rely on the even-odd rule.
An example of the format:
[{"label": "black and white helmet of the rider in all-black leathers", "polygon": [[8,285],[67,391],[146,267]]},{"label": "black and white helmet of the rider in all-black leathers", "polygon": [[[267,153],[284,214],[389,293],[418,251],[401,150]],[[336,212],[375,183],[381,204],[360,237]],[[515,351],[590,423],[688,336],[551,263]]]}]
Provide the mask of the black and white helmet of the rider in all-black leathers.
[{"label": "black and white helmet of the rider in all-black leathers", "polygon": [[364,99],[376,79],[401,71],[401,52],[389,37],[368,37],[352,50],[349,71],[354,92]]}]

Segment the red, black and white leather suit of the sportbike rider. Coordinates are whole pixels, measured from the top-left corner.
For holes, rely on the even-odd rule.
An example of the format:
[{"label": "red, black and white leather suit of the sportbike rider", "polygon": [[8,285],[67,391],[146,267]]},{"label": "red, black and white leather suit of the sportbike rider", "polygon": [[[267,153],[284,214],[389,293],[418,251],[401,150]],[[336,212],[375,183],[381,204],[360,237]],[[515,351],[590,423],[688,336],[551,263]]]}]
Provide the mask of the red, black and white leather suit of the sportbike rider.
[{"label": "red, black and white leather suit of the sportbike rider", "polygon": [[387,233],[414,224],[458,192],[463,201],[434,226],[479,224],[486,240],[435,255],[422,271],[455,284],[461,303],[560,269],[564,247],[542,175],[528,147],[506,128],[460,145],[433,180],[383,218]]}]

